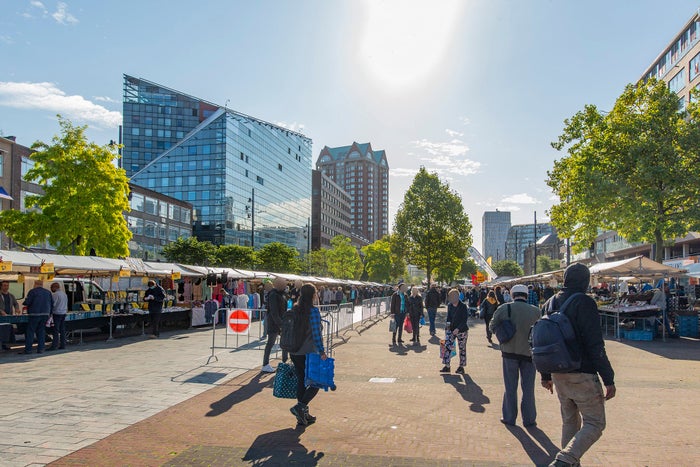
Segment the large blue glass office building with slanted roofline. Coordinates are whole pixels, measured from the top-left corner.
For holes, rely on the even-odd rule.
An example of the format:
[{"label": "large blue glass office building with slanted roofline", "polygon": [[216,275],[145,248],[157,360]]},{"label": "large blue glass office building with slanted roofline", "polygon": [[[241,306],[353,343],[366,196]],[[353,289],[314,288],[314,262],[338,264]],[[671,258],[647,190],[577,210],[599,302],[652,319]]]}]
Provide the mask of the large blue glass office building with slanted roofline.
[{"label": "large blue glass office building with slanted roofline", "polygon": [[123,100],[127,175],[191,203],[193,235],[306,250],[311,139],[127,75]]}]

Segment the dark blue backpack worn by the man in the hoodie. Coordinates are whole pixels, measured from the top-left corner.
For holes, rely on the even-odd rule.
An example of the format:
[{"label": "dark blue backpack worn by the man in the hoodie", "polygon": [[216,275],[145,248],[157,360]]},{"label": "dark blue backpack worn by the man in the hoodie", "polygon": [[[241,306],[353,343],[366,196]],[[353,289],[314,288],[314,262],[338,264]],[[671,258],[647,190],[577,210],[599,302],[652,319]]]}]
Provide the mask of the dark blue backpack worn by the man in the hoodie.
[{"label": "dark blue backpack worn by the man in the hoodie", "polygon": [[[573,299],[583,295],[572,294],[559,310],[547,310],[548,314],[540,318],[530,329],[530,350],[532,363],[541,373],[568,373],[581,368],[581,356],[578,351],[576,331],[566,308]],[[549,305],[552,306],[550,299]]]}]

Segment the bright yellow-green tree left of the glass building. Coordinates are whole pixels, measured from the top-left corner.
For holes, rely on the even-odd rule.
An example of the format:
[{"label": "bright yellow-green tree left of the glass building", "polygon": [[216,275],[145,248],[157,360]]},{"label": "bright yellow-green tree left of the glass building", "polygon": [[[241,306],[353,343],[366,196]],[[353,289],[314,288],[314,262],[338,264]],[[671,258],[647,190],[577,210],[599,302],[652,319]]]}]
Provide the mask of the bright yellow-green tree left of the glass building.
[{"label": "bright yellow-green tree left of the glass building", "polygon": [[25,198],[26,212],[0,213],[0,229],[24,245],[47,240],[62,254],[94,249],[99,256],[128,256],[129,181],[112,163],[116,148],[88,142],[87,126],[73,126],[60,115],[58,123],[61,134],[51,144],[32,145],[34,167],[24,176],[43,194]]}]

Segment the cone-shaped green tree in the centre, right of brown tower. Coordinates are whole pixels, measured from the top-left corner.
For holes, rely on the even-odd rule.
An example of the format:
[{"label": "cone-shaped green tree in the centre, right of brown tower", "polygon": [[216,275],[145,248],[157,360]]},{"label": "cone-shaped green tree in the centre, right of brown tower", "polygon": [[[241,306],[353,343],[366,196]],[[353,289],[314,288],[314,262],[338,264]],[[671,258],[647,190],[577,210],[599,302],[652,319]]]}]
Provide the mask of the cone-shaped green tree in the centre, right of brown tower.
[{"label": "cone-shaped green tree in the centre, right of brown tower", "polygon": [[455,258],[461,264],[471,244],[471,228],[460,196],[421,167],[394,220],[394,236],[405,259],[424,269],[430,281],[435,268],[452,267]]}]

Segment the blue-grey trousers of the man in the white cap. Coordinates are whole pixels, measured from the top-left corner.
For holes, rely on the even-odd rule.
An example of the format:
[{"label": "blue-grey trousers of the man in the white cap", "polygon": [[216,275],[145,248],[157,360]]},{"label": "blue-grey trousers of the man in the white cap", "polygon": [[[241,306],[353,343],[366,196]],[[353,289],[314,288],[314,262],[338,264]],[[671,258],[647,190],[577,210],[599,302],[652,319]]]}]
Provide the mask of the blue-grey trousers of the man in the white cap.
[{"label": "blue-grey trousers of the man in the white cap", "polygon": [[515,424],[518,417],[518,379],[523,392],[520,403],[520,412],[523,417],[523,425],[532,425],[537,419],[535,408],[535,365],[528,360],[515,358],[503,358],[503,421]]}]

